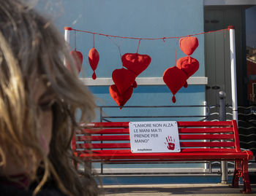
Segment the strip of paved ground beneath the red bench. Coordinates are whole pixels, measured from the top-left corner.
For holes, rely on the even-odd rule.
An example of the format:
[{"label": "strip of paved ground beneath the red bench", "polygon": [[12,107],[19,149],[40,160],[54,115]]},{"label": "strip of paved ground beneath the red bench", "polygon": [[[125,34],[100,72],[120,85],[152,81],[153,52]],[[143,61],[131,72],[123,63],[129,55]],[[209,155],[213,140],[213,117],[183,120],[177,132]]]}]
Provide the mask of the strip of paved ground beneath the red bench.
[{"label": "strip of paved ground beneath the red bench", "polygon": [[[252,185],[252,194],[256,195],[256,184]],[[231,188],[226,184],[141,184],[141,185],[105,185],[102,195],[113,196],[167,196],[167,195],[227,195],[236,196],[241,194],[239,188]]]}]

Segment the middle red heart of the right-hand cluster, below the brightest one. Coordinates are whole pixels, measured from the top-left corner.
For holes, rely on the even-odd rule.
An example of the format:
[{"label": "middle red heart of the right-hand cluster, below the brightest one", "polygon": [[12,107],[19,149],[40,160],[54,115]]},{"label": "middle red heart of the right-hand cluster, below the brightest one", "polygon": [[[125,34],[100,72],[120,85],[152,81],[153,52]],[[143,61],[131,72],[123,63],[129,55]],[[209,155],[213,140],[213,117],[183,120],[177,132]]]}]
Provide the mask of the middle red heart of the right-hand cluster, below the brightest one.
[{"label": "middle red heart of the right-hand cluster, below the brightest one", "polygon": [[195,58],[187,56],[177,60],[177,67],[186,73],[188,79],[198,70],[199,62]]}]

